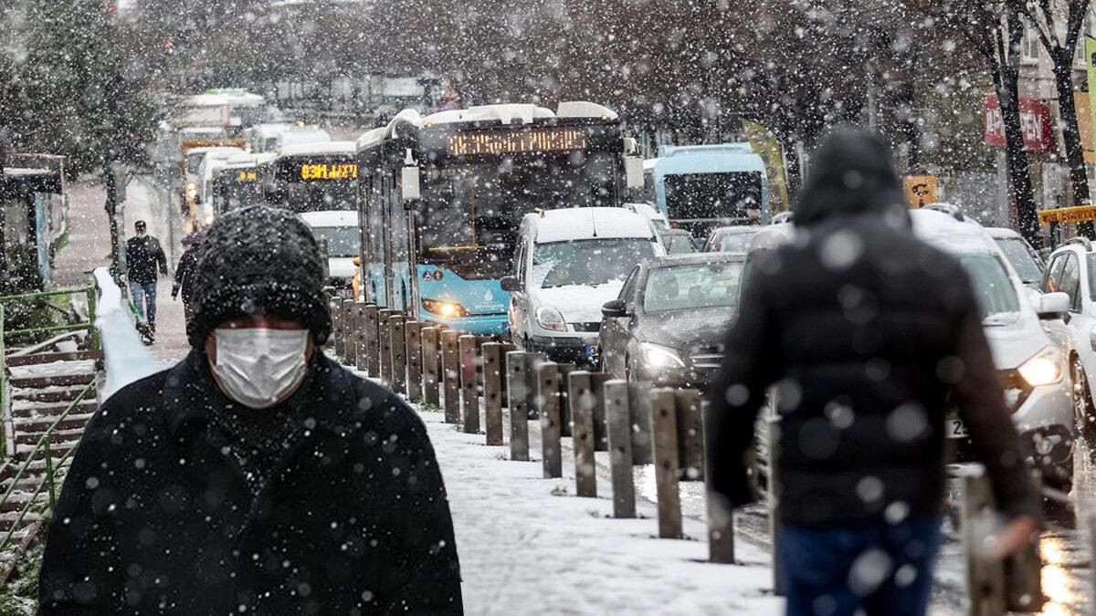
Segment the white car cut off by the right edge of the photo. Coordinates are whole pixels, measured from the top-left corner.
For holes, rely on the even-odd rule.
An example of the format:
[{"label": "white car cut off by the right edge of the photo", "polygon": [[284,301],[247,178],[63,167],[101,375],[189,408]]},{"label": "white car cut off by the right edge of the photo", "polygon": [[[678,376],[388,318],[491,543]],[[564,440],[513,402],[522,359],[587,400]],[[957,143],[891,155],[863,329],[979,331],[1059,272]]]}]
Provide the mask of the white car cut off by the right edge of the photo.
[{"label": "white car cut off by the right edge of the photo", "polygon": [[1050,334],[1068,350],[1073,375],[1073,404],[1077,427],[1089,449],[1096,445],[1096,252],[1086,238],[1074,238],[1051,253],[1040,290],[1064,293],[1069,310],[1050,323]]}]

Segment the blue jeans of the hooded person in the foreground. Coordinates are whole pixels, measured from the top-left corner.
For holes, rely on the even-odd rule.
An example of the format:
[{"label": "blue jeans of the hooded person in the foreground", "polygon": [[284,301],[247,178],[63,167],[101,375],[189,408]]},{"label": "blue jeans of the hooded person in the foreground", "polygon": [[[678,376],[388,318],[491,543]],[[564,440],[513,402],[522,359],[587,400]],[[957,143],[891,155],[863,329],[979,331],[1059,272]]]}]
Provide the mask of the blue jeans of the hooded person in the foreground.
[{"label": "blue jeans of the hooded person in the foreground", "polygon": [[940,549],[940,521],[895,526],[783,526],[789,616],[922,616]]}]

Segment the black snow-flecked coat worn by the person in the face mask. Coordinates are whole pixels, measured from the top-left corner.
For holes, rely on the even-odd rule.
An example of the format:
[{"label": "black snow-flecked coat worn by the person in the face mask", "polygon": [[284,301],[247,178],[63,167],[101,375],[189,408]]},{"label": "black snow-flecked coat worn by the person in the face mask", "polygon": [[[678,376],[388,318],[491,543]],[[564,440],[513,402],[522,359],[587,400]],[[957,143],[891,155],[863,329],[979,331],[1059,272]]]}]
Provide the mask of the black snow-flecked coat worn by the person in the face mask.
[{"label": "black snow-flecked coat worn by the person in the face mask", "polygon": [[423,422],[324,357],[311,370],[256,498],[209,423],[226,399],[204,354],[112,396],[65,480],[39,614],[460,614]]}]

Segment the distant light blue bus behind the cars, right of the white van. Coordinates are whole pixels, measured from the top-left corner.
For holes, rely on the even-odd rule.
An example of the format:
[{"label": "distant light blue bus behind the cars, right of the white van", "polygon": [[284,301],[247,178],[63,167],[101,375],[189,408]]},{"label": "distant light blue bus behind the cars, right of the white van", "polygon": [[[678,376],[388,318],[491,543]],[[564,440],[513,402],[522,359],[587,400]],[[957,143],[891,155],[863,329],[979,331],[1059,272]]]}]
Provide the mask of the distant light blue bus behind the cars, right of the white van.
[{"label": "distant light blue bus behind the cars, right of the white van", "polygon": [[716,227],[769,221],[765,162],[750,144],[660,146],[647,167],[659,210],[697,239]]}]

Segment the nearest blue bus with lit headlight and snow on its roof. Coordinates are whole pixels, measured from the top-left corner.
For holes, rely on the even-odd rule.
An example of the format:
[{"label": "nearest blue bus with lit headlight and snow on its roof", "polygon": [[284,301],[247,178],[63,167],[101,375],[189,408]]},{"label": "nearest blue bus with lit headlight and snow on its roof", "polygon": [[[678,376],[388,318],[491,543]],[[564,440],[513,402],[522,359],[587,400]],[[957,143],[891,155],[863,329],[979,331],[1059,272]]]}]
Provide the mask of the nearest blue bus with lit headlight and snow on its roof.
[{"label": "nearest blue bus with lit headlight and snow on its roof", "polygon": [[525,214],[620,206],[642,182],[633,141],[593,103],[404,110],[357,146],[359,295],[482,335],[507,330],[500,280]]}]

